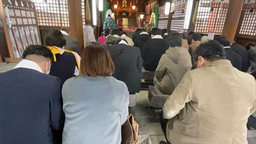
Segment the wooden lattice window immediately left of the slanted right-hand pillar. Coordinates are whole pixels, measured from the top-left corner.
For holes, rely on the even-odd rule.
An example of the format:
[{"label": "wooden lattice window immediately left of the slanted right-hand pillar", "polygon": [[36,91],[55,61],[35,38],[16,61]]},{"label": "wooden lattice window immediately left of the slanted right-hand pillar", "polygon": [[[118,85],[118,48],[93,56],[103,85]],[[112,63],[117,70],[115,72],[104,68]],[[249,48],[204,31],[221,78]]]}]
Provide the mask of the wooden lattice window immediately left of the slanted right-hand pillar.
[{"label": "wooden lattice window immediately left of the slanted right-hand pillar", "polygon": [[228,3],[200,0],[195,32],[208,33],[210,30],[215,31],[216,34],[221,34],[227,9]]}]

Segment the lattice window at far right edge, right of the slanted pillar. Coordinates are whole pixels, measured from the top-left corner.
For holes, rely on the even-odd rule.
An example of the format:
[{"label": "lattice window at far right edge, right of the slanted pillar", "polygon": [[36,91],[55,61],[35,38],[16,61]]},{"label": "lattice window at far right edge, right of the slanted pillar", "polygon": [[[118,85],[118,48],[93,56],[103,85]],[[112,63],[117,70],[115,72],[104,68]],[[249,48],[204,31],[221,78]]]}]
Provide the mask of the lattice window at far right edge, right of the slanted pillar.
[{"label": "lattice window at far right edge, right of the slanted pillar", "polygon": [[250,12],[250,9],[245,10],[239,34],[256,35],[256,9],[253,9],[253,12]]}]

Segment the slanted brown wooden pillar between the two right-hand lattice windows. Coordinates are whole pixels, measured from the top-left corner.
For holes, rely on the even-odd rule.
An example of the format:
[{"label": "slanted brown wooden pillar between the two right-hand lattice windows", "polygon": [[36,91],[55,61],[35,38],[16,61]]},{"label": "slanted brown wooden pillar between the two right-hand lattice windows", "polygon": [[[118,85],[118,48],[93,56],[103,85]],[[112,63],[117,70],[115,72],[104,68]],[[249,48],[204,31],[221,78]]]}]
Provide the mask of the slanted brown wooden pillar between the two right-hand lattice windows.
[{"label": "slanted brown wooden pillar between the two right-hand lattice windows", "polygon": [[222,34],[230,42],[234,40],[244,0],[230,0]]}]

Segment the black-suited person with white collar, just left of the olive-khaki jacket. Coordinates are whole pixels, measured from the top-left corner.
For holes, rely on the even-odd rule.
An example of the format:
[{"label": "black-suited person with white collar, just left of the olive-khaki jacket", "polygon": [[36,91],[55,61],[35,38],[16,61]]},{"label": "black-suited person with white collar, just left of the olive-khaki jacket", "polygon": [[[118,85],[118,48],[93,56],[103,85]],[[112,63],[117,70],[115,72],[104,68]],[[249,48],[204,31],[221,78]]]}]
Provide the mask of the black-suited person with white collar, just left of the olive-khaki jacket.
[{"label": "black-suited person with white collar, just left of the olive-khaki jacket", "polygon": [[152,39],[144,43],[142,58],[144,60],[144,69],[147,71],[155,71],[160,58],[169,49],[169,44],[161,36],[161,30],[158,28],[151,29]]}]

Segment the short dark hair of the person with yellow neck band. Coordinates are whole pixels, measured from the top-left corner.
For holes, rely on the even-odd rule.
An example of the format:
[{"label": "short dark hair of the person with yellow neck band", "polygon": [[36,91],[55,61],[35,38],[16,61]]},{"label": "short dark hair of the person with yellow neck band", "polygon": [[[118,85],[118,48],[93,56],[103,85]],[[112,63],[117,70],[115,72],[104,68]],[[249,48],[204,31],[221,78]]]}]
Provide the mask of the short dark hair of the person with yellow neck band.
[{"label": "short dark hair of the person with yellow neck band", "polygon": [[57,46],[62,48],[63,46],[66,46],[66,39],[62,35],[61,31],[57,29],[51,29],[45,35],[45,44],[46,46]]}]

